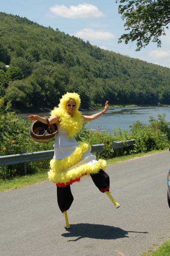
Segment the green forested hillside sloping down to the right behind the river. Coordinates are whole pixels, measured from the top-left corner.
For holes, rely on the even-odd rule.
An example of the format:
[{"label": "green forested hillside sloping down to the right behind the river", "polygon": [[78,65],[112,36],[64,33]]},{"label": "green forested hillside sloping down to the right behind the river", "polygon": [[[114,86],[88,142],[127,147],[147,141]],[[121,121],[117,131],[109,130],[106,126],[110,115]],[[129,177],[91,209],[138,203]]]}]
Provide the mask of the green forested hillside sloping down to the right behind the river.
[{"label": "green forested hillside sloping down to the right behind the river", "polygon": [[53,108],[67,91],[81,95],[82,108],[106,99],[169,105],[170,69],[0,12],[0,97],[16,109]]}]

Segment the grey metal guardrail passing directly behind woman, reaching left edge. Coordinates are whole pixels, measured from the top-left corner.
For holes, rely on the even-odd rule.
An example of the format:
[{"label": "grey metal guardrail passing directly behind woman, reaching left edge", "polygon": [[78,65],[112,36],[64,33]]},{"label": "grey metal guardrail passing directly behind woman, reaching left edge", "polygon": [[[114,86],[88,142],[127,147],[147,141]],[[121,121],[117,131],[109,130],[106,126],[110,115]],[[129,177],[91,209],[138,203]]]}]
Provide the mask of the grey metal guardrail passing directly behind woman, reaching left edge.
[{"label": "grey metal guardrail passing directly behind woman, reaching left edge", "polygon": [[[91,145],[91,152],[97,152],[100,157],[100,153],[104,151],[104,144],[95,144]],[[54,156],[54,150],[47,151],[37,151],[32,153],[22,153],[22,154],[13,154],[8,156],[0,157],[0,166],[12,165],[21,163],[23,164],[24,175],[26,175],[26,163],[37,161],[37,160],[46,160]]]}]

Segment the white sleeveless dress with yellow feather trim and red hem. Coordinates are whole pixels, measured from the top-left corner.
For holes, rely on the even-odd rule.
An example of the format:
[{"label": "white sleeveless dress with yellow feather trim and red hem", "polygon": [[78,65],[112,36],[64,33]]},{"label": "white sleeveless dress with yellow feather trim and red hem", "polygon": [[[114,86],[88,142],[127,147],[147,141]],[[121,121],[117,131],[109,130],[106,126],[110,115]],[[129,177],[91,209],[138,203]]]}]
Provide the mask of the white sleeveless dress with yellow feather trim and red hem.
[{"label": "white sleeveless dress with yellow feather trim and red hem", "polygon": [[75,137],[68,137],[67,131],[58,125],[54,143],[54,157],[50,161],[49,180],[57,186],[67,186],[80,181],[84,175],[106,168],[106,161],[96,160],[89,151],[88,143],[78,143]]}]

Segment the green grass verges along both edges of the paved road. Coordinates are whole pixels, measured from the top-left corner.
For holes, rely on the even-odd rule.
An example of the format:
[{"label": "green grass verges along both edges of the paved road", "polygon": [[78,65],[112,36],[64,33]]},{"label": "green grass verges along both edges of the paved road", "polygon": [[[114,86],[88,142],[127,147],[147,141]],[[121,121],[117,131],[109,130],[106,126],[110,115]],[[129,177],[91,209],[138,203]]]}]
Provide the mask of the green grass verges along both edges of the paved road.
[{"label": "green grass verges along both edges of the paved road", "polygon": [[[167,150],[167,149],[166,149]],[[166,151],[165,150],[165,151]],[[107,160],[107,164],[117,164],[122,161],[127,161],[136,157],[144,157],[150,154],[156,154],[162,152],[160,151],[150,151],[147,153],[139,153],[135,155],[127,155],[122,157],[115,157],[112,159]],[[15,177],[12,180],[0,180],[0,192],[4,192],[9,189],[18,189],[23,186],[30,186],[35,183],[40,183],[48,180],[47,172],[37,173],[34,175],[26,175],[22,177]],[[158,247],[157,250],[155,248]],[[166,241],[161,246],[153,245],[147,252],[141,254],[141,256],[170,256],[170,240]]]}]

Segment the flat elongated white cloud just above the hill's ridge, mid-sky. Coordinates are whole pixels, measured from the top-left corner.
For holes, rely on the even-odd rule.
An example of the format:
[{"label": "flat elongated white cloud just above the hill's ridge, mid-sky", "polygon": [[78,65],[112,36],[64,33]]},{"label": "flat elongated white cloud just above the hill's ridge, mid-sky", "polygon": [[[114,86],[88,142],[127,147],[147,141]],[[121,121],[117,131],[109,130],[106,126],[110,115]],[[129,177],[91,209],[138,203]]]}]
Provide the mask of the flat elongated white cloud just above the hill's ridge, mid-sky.
[{"label": "flat elongated white cloud just above the hill's ridge, mid-sky", "polygon": [[78,38],[82,38],[85,40],[109,40],[115,38],[115,36],[103,30],[95,31],[94,29],[81,29],[74,33]]}]

